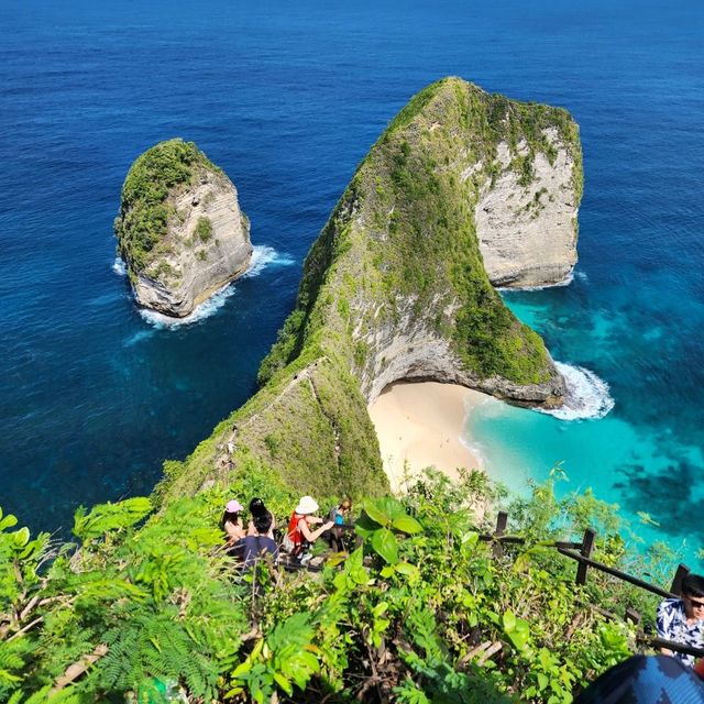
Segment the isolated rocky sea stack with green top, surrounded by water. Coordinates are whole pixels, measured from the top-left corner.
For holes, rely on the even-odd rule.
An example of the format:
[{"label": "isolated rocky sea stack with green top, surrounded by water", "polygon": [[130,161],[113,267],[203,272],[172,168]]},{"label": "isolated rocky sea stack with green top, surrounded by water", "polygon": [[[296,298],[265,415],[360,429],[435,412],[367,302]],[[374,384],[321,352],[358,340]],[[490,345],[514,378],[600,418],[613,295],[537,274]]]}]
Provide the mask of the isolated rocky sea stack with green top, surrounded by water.
[{"label": "isolated rocky sea stack with green top, surrounded by water", "polygon": [[234,185],[183,140],[161,142],[132,164],[114,231],[140,306],[177,318],[242,275],[252,257]]}]

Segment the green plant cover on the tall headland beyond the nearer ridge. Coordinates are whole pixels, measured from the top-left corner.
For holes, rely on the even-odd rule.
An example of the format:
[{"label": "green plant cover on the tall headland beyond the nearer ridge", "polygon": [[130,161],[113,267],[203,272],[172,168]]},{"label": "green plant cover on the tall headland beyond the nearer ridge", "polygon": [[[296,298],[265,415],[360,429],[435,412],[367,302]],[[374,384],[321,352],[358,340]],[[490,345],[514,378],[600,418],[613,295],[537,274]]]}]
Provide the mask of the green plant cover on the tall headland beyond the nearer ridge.
[{"label": "green plant cover on the tall headland beyond the nearer ridge", "polygon": [[[554,161],[550,130],[572,155],[579,201],[579,133],[565,110],[488,95],[458,78],[415,96],[359,166],[314,244],[296,309],[260,380],[294,360],[322,326],[345,340],[355,370],[369,374],[374,350],[352,338],[382,324],[403,332],[410,307],[411,324],[449,338],[471,376],[518,385],[549,381],[554,372],[542,341],[488,282],[474,207],[498,173],[497,145],[526,151],[509,168],[527,185],[536,153]],[[471,178],[462,176],[468,172]]]}]

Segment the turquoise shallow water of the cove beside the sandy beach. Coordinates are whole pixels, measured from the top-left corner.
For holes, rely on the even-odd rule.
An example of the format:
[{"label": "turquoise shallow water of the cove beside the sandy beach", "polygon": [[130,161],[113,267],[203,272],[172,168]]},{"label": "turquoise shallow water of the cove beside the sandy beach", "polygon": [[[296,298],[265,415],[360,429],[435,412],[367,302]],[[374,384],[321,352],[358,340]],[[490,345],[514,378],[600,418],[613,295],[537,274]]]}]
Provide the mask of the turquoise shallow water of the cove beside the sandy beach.
[{"label": "turquoise shallow water of the cove beside the sandy beach", "polygon": [[[697,566],[704,546],[701,387],[682,355],[692,345],[698,363],[702,301],[678,299],[652,278],[594,290],[584,268],[570,287],[504,296],[558,361],[597,373],[596,386],[571,378],[593,402],[592,417],[556,418],[488,399],[468,418],[469,442],[492,476],[522,492],[559,464],[569,480],[558,484],[560,493],[592,487],[648,542],[664,539]],[[602,415],[605,404],[613,407]],[[638,512],[659,525],[645,525]]]}]

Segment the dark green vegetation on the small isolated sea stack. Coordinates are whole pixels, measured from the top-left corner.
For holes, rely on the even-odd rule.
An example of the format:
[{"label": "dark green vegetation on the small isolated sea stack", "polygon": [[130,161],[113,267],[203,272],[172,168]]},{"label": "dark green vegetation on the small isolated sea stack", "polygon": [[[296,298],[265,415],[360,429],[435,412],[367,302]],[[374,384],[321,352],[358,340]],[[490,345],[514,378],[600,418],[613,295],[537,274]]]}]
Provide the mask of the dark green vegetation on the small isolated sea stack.
[{"label": "dark green vegetation on the small isolated sea stack", "polygon": [[[132,164],[122,186],[120,215],[114,221],[120,255],[139,273],[162,253],[168,220],[176,217],[168,202],[173,189],[188,186],[199,169],[220,170],[193,142],[169,140],[147,150]],[[200,228],[204,228],[202,231]],[[211,232],[198,222],[205,242]]]}]

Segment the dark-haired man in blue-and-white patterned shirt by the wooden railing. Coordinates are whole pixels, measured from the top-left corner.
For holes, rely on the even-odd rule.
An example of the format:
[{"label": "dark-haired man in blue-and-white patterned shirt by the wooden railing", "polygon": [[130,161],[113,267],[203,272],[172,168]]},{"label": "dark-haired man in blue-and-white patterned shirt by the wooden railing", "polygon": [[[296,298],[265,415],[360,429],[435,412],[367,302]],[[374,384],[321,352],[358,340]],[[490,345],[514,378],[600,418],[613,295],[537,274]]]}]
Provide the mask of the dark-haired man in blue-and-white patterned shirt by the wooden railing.
[{"label": "dark-haired man in blue-and-white patterned shirt by the wooden railing", "polygon": [[[657,624],[659,638],[704,648],[704,576],[688,574],[682,580],[681,598],[666,598],[658,606]],[[694,656],[667,648],[662,652],[694,666]]]}]

